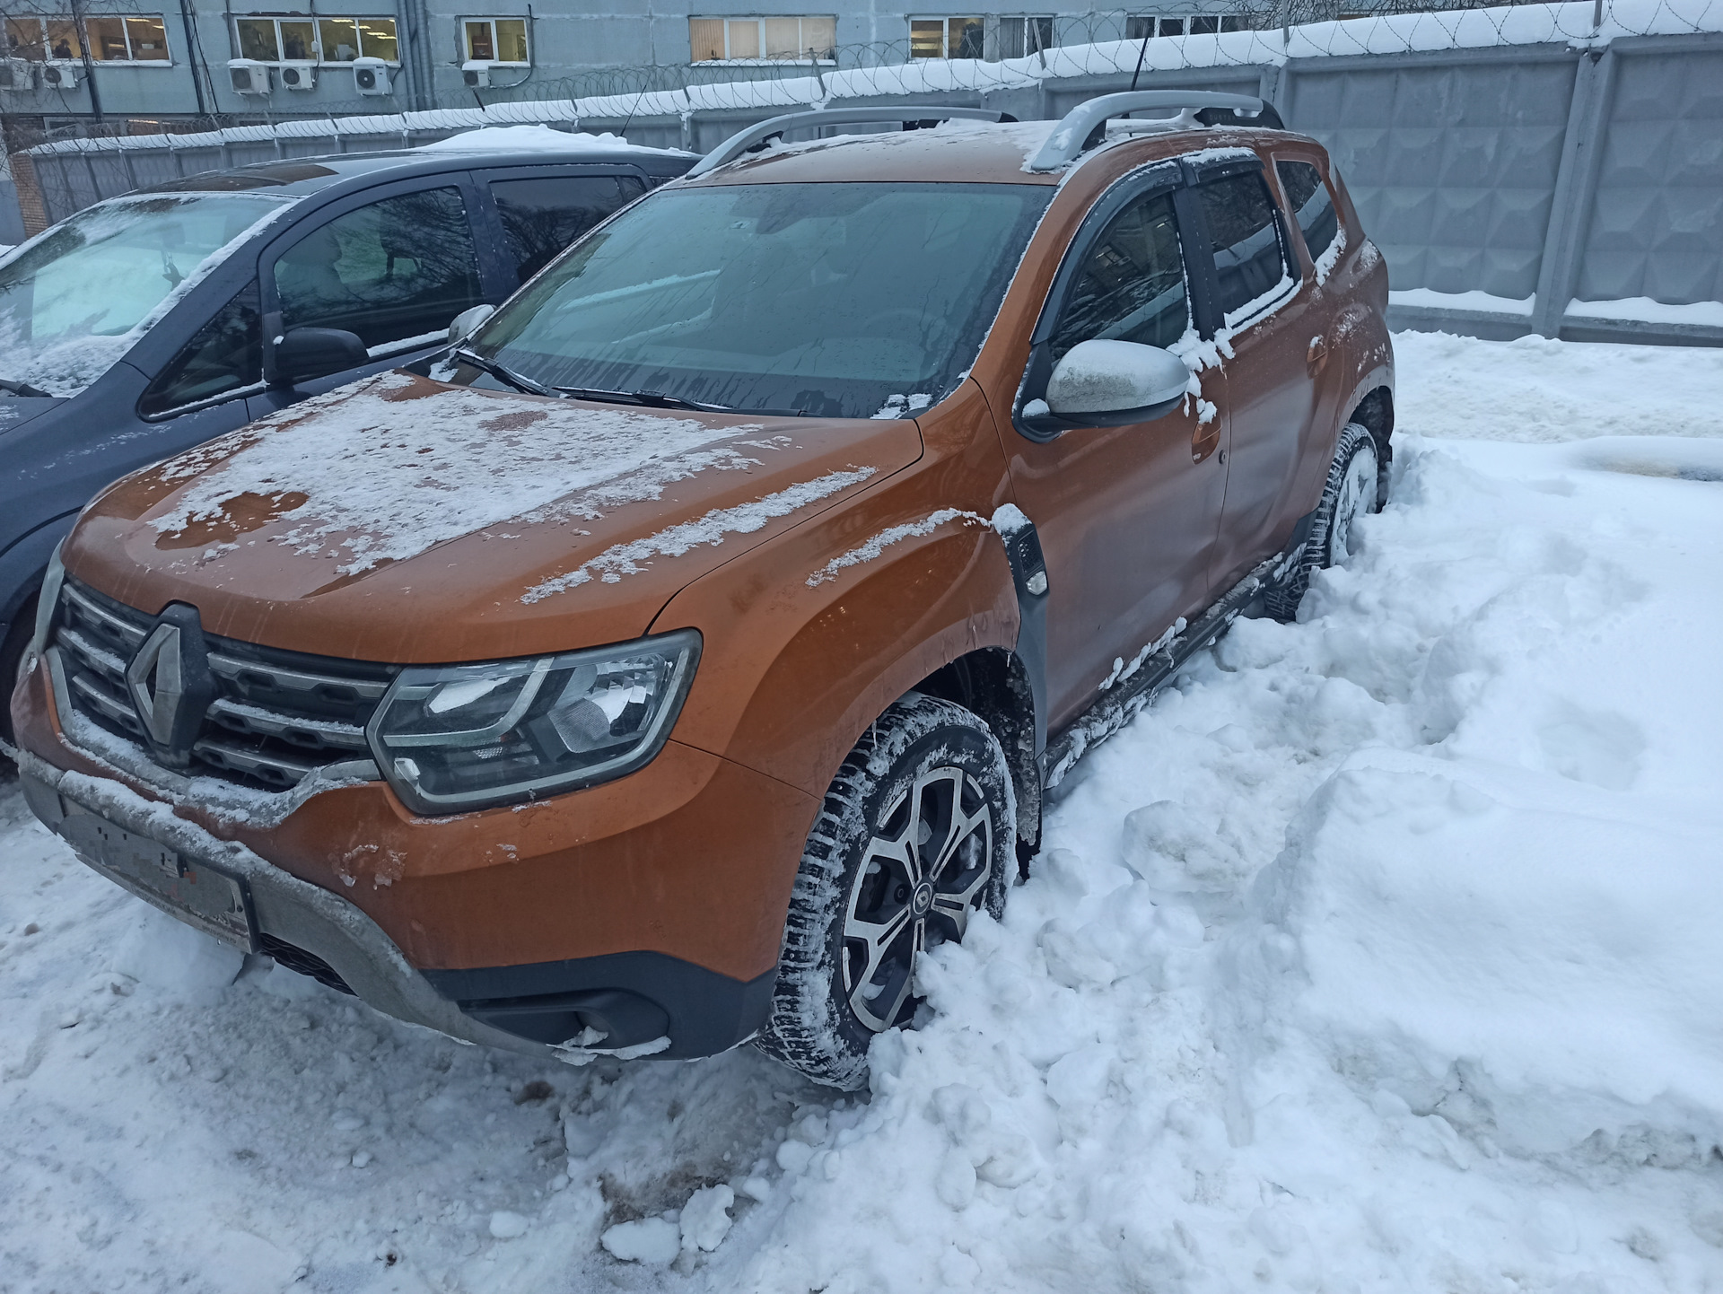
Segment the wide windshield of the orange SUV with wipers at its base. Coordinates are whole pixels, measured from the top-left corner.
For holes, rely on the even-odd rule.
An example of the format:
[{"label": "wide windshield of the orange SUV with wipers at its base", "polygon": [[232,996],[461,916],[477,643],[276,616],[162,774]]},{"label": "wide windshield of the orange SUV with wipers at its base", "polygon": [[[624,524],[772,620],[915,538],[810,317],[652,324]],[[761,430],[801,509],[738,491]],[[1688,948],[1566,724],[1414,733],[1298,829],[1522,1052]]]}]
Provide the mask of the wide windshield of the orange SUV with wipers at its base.
[{"label": "wide windshield of the orange SUV with wipers at its base", "polygon": [[663,190],[579,243],[470,350],[570,395],[893,417],[949,395],[1041,184]]}]

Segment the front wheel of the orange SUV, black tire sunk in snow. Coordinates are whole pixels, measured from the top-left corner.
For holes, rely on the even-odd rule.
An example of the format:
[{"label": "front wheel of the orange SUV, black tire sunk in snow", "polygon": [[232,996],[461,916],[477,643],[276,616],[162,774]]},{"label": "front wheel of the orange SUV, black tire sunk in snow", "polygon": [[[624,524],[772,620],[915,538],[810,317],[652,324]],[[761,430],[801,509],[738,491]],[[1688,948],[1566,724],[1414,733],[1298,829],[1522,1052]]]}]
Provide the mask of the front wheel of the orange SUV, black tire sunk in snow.
[{"label": "front wheel of the orange SUV, black tire sunk in snow", "polygon": [[[1015,824],[992,731],[951,701],[894,703],[849,751],[808,834],[758,1046],[815,1082],[865,1087],[874,1036],[915,1015],[920,949],[961,939],[972,911],[1005,911]],[[868,929],[879,936],[862,937]]]}]

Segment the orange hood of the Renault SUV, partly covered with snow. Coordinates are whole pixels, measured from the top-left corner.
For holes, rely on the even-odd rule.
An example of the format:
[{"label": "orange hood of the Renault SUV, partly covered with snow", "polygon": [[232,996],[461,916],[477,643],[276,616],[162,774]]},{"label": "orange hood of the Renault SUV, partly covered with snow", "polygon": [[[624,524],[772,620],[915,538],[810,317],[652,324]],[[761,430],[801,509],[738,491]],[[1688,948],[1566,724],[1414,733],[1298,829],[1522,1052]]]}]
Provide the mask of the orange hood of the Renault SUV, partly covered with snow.
[{"label": "orange hood of the Renault SUV, partly covered with snow", "polygon": [[682,414],[391,372],[136,472],[67,570],[224,638],[386,662],[638,638],[687,582],[922,453],[913,420]]}]

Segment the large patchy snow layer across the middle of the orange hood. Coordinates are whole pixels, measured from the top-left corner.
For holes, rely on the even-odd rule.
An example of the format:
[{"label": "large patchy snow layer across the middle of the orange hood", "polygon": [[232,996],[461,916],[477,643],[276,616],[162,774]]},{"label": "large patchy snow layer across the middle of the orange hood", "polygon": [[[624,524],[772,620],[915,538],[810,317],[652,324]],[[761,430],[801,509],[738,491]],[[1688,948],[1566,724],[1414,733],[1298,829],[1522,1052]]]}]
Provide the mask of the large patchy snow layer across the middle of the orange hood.
[{"label": "large patchy snow layer across the middle of the orange hood", "polygon": [[162,476],[196,479],[150,526],[181,534],[262,498],[291,519],[271,543],[336,557],[341,575],[357,575],[505,520],[539,520],[593,486],[605,489],[570,515],[658,498],[672,481],[746,463],[736,448],[706,446],[758,431],[467,388],[405,405],[401,396],[422,386],[405,372],[383,374],[193,450]]}]

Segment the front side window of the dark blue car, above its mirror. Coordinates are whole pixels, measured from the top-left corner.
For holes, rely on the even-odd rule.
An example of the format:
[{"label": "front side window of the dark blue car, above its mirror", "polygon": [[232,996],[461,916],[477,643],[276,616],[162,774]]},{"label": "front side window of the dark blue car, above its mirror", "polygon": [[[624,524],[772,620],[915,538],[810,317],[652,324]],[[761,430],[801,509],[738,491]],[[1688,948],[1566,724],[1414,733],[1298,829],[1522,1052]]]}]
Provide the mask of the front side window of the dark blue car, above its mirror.
[{"label": "front side window of the dark blue car, above its mirror", "polygon": [[426,336],[484,300],[460,190],[338,215],[276,262],[283,327],[345,327],[367,346]]}]

